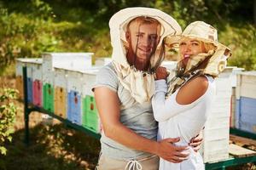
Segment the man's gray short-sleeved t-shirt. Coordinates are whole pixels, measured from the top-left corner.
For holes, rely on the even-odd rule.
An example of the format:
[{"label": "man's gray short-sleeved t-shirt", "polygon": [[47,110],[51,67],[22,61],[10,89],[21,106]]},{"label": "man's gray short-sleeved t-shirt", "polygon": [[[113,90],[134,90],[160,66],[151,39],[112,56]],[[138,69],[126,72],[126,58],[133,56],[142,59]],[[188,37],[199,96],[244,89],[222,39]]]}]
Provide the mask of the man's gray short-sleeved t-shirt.
[{"label": "man's gray short-sleeved t-shirt", "polygon": [[[105,65],[96,76],[94,88],[107,87],[118,94],[120,101],[120,122],[135,133],[156,140],[157,122],[154,120],[151,102],[139,104],[132,98],[131,93],[119,82],[117,73],[112,63]],[[139,142],[139,141],[138,141]],[[133,150],[123,144],[109,139],[102,133],[102,154],[114,159],[137,159],[150,154],[139,150]]]}]

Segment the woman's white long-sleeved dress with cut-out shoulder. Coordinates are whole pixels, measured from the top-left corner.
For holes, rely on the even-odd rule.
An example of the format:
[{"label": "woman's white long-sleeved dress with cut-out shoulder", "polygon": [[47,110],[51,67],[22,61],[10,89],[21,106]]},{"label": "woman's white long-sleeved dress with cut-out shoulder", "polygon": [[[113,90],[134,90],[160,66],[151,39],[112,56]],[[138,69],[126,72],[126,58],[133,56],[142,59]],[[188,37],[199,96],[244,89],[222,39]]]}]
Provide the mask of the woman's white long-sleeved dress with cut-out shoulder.
[{"label": "woman's white long-sleeved dress with cut-out shoulder", "polygon": [[[207,77],[207,76],[206,76]],[[210,114],[212,101],[216,94],[216,86],[212,77],[207,77],[208,87],[205,94],[189,105],[177,103],[177,91],[168,99],[166,80],[155,81],[155,94],[152,99],[154,118],[159,122],[157,139],[177,138],[177,145],[188,145],[189,140],[201,132]],[[189,160],[182,163],[172,163],[160,159],[160,169],[204,169],[199,153],[189,149]]]}]

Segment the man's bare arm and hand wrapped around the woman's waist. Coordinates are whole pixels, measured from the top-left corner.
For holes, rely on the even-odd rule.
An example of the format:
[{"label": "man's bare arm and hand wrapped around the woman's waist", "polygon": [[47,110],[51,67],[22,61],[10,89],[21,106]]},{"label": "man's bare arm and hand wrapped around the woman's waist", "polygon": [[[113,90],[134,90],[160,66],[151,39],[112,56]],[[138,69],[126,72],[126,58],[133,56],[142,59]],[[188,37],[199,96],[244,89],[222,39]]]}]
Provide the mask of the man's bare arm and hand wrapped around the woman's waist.
[{"label": "man's bare arm and hand wrapped around the woman's waist", "polygon": [[164,139],[156,142],[134,133],[119,122],[119,98],[107,88],[95,88],[96,106],[99,111],[105,135],[135,150],[142,150],[160,156],[166,161],[181,162],[188,154],[182,153],[187,146],[174,146],[179,139]]}]

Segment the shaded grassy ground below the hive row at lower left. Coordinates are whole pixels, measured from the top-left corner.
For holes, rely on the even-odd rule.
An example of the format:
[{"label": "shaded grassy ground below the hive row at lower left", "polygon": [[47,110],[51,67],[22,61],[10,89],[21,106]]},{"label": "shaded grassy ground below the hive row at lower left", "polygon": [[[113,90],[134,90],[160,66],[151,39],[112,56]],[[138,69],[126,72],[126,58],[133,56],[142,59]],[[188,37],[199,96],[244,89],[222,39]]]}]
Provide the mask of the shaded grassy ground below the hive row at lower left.
[{"label": "shaded grassy ground below the hive row at lower left", "polygon": [[71,170],[94,169],[100,142],[63,124],[30,128],[30,144],[24,143],[24,129],[6,144],[7,155],[0,156],[0,169]]}]

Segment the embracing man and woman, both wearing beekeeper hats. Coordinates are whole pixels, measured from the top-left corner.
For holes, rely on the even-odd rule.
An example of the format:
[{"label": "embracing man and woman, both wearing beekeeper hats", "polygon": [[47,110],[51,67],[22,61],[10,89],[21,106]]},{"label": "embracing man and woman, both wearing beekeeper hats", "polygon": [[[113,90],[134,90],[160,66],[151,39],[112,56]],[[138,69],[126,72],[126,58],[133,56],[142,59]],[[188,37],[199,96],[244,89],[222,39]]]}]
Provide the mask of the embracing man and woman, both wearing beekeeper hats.
[{"label": "embracing man and woman, both wearing beekeeper hats", "polygon": [[[229,48],[207,23],[195,21],[182,32],[155,8],[122,9],[109,26],[112,62],[93,88],[103,127],[96,169],[204,169],[199,134]],[[160,64],[174,43],[179,60],[170,80]]]}]

